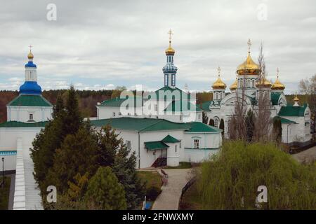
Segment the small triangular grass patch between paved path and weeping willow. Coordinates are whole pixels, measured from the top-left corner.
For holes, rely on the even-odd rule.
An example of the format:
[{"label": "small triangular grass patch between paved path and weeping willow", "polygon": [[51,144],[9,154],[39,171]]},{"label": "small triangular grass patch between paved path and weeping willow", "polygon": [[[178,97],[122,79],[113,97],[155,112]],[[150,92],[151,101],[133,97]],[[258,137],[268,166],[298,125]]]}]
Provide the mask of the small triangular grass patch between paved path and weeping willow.
[{"label": "small triangular grass patch between paved path and weeping willow", "polygon": [[197,194],[197,184],[193,185],[187,189],[183,195],[183,200],[181,203],[181,210],[202,210],[202,204],[199,201],[199,195]]}]

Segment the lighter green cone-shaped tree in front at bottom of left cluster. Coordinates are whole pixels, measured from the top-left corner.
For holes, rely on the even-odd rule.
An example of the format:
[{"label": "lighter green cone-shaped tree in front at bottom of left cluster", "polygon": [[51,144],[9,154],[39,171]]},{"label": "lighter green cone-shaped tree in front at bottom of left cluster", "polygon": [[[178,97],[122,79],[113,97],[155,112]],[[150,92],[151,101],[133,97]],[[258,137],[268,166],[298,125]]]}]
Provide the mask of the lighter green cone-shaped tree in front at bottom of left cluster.
[{"label": "lighter green cone-shaped tree in front at bottom of left cluster", "polygon": [[124,187],[110,167],[99,167],[88,182],[88,190],[84,198],[88,209],[126,209]]}]

